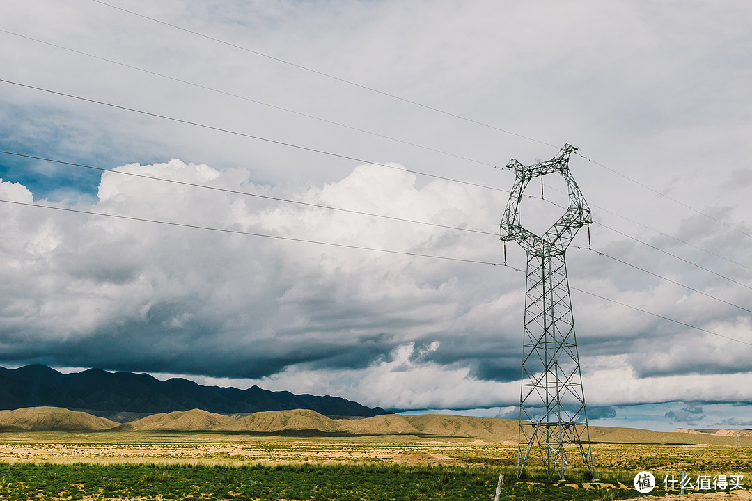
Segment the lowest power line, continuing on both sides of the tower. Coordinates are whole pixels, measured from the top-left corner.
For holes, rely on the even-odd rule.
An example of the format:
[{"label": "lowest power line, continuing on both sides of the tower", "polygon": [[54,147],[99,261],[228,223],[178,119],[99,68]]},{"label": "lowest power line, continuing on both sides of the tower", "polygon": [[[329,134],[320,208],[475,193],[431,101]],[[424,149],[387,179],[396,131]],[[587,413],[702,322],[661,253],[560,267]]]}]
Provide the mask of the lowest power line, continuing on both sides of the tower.
[{"label": "lowest power line, continuing on both sides of the tower", "polygon": [[[508,264],[496,263],[496,262],[493,262],[493,261],[480,261],[480,260],[473,260],[473,259],[450,258],[450,257],[447,257],[447,256],[421,254],[421,253],[418,253],[418,252],[394,251],[394,250],[389,250],[389,249],[374,249],[372,247],[365,247],[365,246],[351,246],[351,245],[342,244],[342,243],[320,242],[320,241],[317,241],[317,240],[307,240],[307,239],[302,239],[302,238],[282,237],[280,235],[259,234],[259,233],[253,233],[253,232],[250,232],[250,231],[228,230],[228,229],[225,229],[225,228],[213,228],[213,227],[210,227],[210,226],[201,226],[201,225],[188,225],[188,224],[177,223],[177,222],[160,221],[158,219],[137,218],[137,217],[132,217],[132,216],[119,216],[119,215],[116,215],[116,214],[97,213],[97,212],[89,211],[89,210],[71,209],[71,208],[68,208],[68,207],[54,207],[54,206],[51,206],[51,205],[43,205],[43,204],[29,204],[29,203],[26,203],[26,202],[17,202],[17,201],[8,201],[8,200],[0,200],[0,203],[14,204],[14,205],[25,206],[25,207],[38,207],[40,209],[47,209],[47,210],[59,210],[59,211],[62,211],[62,212],[67,212],[67,213],[88,214],[88,215],[91,215],[91,216],[102,216],[102,217],[109,217],[109,218],[114,218],[114,219],[125,219],[125,220],[129,220],[129,221],[150,222],[150,223],[153,223],[153,224],[176,226],[176,227],[180,227],[180,228],[191,228],[191,229],[199,229],[199,230],[206,230],[206,231],[217,231],[217,232],[220,232],[220,233],[227,233],[227,234],[241,234],[241,235],[247,235],[247,236],[250,236],[250,237],[263,237],[263,238],[270,238],[270,239],[275,239],[275,240],[284,240],[284,241],[288,241],[288,242],[314,243],[314,244],[323,245],[323,246],[341,247],[341,248],[345,248],[345,249],[366,250],[366,251],[371,251],[371,252],[385,252],[385,253],[388,253],[388,254],[408,255],[408,256],[420,257],[420,258],[433,258],[433,259],[441,259],[441,260],[444,260],[444,261],[459,261],[459,262],[471,263],[471,264],[487,264],[487,265],[491,265],[491,266],[506,267],[506,268],[509,268],[511,270],[514,270],[514,271],[517,271],[517,272],[520,272],[520,273],[525,273],[525,270],[522,270],[520,268],[509,266]],[[723,334],[719,334],[719,333],[713,332],[712,330],[703,329],[702,327],[696,327],[695,325],[687,324],[685,322],[678,321],[678,320],[675,320],[673,318],[666,317],[664,315],[659,315],[657,313],[649,312],[646,309],[641,309],[641,308],[638,308],[636,306],[631,306],[629,304],[622,303],[622,302],[617,301],[617,300],[612,300],[612,299],[609,299],[608,297],[603,297],[603,296],[601,296],[599,294],[595,294],[593,292],[584,291],[581,288],[576,288],[576,287],[572,287],[572,286],[570,286],[570,288],[572,288],[575,291],[582,292],[584,294],[589,294],[589,295],[591,295],[593,297],[599,297],[600,299],[608,301],[608,302],[611,302],[611,303],[619,304],[620,306],[625,306],[626,308],[629,308],[629,309],[634,309],[634,310],[639,311],[639,312],[647,313],[647,315],[653,315],[653,316],[655,316],[657,318],[662,318],[663,320],[666,320],[666,321],[672,321],[675,324],[684,325],[685,327],[690,327],[690,328],[695,329],[695,330],[700,330],[702,332],[709,333],[709,334],[712,334],[712,335],[717,336],[717,337],[723,337],[726,340],[735,341],[736,343],[741,343],[741,344],[744,344],[744,345],[747,345],[747,346],[752,346],[752,343],[747,343],[746,341],[737,340],[735,338],[724,336]]]}]

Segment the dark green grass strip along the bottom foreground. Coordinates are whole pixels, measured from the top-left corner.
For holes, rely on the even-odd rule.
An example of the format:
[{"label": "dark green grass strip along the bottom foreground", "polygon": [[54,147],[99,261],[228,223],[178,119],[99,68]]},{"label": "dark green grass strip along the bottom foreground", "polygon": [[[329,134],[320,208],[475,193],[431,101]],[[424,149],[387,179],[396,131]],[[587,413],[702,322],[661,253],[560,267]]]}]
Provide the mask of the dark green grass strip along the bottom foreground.
[{"label": "dark green grass strip along the bottom foreground", "polygon": [[[505,469],[500,499],[626,499],[634,490],[514,481]],[[493,499],[499,469],[466,466],[235,466],[0,464],[0,497],[21,499],[306,499],[387,501]]]}]

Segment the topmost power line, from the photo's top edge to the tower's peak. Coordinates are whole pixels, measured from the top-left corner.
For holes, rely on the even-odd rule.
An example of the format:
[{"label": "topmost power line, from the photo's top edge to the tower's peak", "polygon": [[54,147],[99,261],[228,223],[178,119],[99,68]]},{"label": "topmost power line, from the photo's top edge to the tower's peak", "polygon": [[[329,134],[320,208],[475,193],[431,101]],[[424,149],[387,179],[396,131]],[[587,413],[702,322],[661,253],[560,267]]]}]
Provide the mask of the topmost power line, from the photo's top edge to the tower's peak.
[{"label": "topmost power line, from the photo's top edge to the tower's peak", "polygon": [[212,37],[210,35],[205,35],[205,34],[203,34],[201,32],[196,32],[196,31],[194,31],[192,29],[183,28],[182,26],[177,26],[176,24],[167,23],[166,21],[158,20],[158,19],[156,19],[154,17],[149,17],[149,16],[146,16],[144,14],[139,14],[138,12],[135,12],[135,11],[129,11],[128,9],[125,9],[125,8],[122,8],[122,7],[117,7],[117,5],[111,5],[111,4],[108,4],[106,2],[102,2],[101,0],[92,0],[92,2],[96,2],[96,3],[101,4],[101,5],[106,5],[107,7],[117,9],[118,11],[123,11],[123,12],[126,12],[128,14],[132,14],[134,16],[141,17],[142,19],[150,20],[150,21],[153,21],[154,23],[159,23],[159,24],[161,24],[163,26],[169,26],[170,28],[178,29],[181,32],[190,33],[191,35],[196,35],[198,37],[205,38],[207,40],[211,40],[211,41],[217,42],[219,44],[226,45],[228,47],[233,47],[235,49],[244,50],[247,53],[255,54],[256,56],[265,57],[266,59],[271,59],[272,61],[280,62],[280,63],[283,63],[284,65],[292,66],[293,68],[298,68],[300,70],[308,71],[310,73],[314,73],[314,74],[320,75],[322,77],[331,78],[332,80],[337,80],[338,82],[347,83],[348,85],[356,86],[356,87],[359,87],[360,89],[365,89],[365,90],[368,90],[370,92],[376,92],[377,94],[385,95],[385,96],[387,96],[389,98],[397,99],[398,101],[403,101],[405,103],[414,104],[415,106],[425,108],[426,110],[432,110],[432,111],[435,111],[437,113],[441,113],[441,114],[444,114],[444,115],[447,115],[447,116],[453,116],[456,119],[464,120],[465,122],[475,123],[476,125],[481,125],[483,127],[493,128],[496,131],[504,132],[505,134],[511,134],[513,136],[521,137],[521,138],[526,139],[526,140],[531,140],[531,141],[534,141],[535,143],[541,143],[541,144],[544,144],[546,146],[551,146],[553,148],[557,147],[557,146],[554,146],[553,144],[546,143],[544,141],[535,139],[533,137],[524,136],[523,134],[517,134],[516,132],[508,131],[508,130],[505,130],[503,128],[499,128],[499,127],[496,127],[495,125],[490,125],[490,124],[487,124],[487,123],[484,123],[484,122],[479,122],[478,120],[468,119],[465,116],[457,115],[456,113],[451,113],[451,112],[446,111],[446,110],[441,110],[440,108],[432,107],[432,106],[429,106],[428,104],[423,104],[423,103],[420,103],[418,101],[413,101],[413,100],[408,99],[408,98],[402,98],[399,95],[390,94],[390,92],[384,92],[384,91],[379,90],[379,89],[374,89],[373,87],[365,86],[362,83],[353,82],[353,80],[347,80],[345,78],[336,77],[335,75],[332,75],[332,74],[329,74],[329,73],[325,73],[323,71],[314,70],[313,68],[308,68],[307,66],[298,65],[298,64],[296,64],[294,62],[286,61],[286,60],[280,59],[278,57],[269,56],[268,54],[259,52],[258,50],[253,50],[253,49],[249,49],[248,47],[243,47],[243,46],[238,45],[238,44],[233,44],[232,42],[224,41],[224,40],[222,40],[220,38],[215,38],[215,37]]}]

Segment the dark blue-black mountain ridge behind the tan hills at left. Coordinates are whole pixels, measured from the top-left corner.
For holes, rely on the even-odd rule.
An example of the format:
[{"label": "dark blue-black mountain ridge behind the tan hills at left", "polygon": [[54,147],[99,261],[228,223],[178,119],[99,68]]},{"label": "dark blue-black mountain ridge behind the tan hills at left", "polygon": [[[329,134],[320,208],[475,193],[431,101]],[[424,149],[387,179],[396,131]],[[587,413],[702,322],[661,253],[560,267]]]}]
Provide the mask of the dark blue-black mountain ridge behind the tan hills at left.
[{"label": "dark blue-black mountain ridge behind the tan hills at left", "polygon": [[[365,418],[392,414],[381,407],[371,409],[340,397],[296,395],[258,386],[247,390],[220,388],[182,378],[160,381],[148,374],[108,373],[101,369],[62,374],[45,365],[14,370],[0,367],[0,409],[38,406],[85,410],[110,418],[190,409],[220,414],[311,409],[328,416]],[[127,418],[118,419],[123,420]]]}]

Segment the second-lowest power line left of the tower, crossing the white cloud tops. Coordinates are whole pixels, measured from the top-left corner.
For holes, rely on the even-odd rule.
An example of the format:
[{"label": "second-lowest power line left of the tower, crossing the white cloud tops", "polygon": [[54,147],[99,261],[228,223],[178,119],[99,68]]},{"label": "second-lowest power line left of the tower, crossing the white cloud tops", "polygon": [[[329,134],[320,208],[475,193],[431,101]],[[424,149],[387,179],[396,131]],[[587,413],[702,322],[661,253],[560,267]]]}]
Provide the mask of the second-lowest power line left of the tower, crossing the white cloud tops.
[{"label": "second-lowest power line left of the tower, crossing the white cloud tops", "polygon": [[333,206],[330,206],[330,205],[312,204],[310,202],[302,202],[302,201],[297,201],[297,200],[290,200],[288,198],[271,197],[269,195],[259,195],[258,193],[241,192],[239,190],[219,188],[217,186],[208,186],[208,185],[203,185],[203,184],[199,184],[199,183],[188,183],[186,181],[168,180],[168,179],[165,179],[163,177],[148,176],[146,174],[135,174],[135,173],[132,173],[132,172],[127,172],[127,171],[114,171],[114,170],[111,170],[111,169],[105,169],[105,168],[101,168],[101,167],[92,167],[91,165],[86,165],[86,164],[76,164],[76,163],[70,162],[70,161],[53,160],[52,158],[44,158],[44,157],[41,157],[41,156],[34,156],[34,155],[24,155],[23,153],[14,153],[14,152],[2,151],[2,150],[0,150],[0,153],[5,153],[5,155],[19,156],[19,157],[23,157],[23,158],[32,158],[32,159],[41,160],[41,161],[49,161],[49,162],[53,162],[55,164],[71,165],[73,167],[92,169],[93,171],[108,172],[108,173],[111,173],[111,174],[122,174],[124,176],[140,177],[140,178],[146,179],[146,180],[162,181],[164,183],[173,183],[173,184],[183,185],[183,186],[192,186],[194,188],[210,189],[210,190],[214,190],[215,192],[232,193],[234,195],[245,195],[245,196],[248,196],[248,197],[263,198],[265,200],[273,200],[273,201],[278,201],[278,202],[285,202],[287,204],[298,204],[298,205],[302,205],[302,206],[305,206],[305,207],[317,207],[319,209],[336,210],[336,211],[344,212],[344,213],[358,214],[360,216],[371,216],[371,217],[374,217],[374,218],[390,219],[390,220],[393,220],[393,221],[401,221],[401,222],[409,222],[409,223],[414,223],[416,225],[433,226],[435,228],[444,228],[444,229],[456,230],[456,231],[468,231],[469,233],[477,233],[477,234],[484,234],[484,235],[493,235],[493,237],[498,237],[499,236],[498,233],[491,233],[490,231],[472,230],[472,229],[469,229],[469,228],[459,228],[458,226],[450,226],[450,225],[439,225],[437,223],[426,222],[426,221],[417,221],[415,219],[405,219],[405,218],[400,218],[400,217],[396,217],[396,216],[387,216],[385,214],[367,213],[367,212],[364,212],[364,211],[361,211],[361,210],[343,209],[341,207],[333,207]]}]

